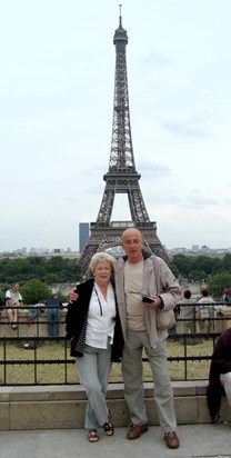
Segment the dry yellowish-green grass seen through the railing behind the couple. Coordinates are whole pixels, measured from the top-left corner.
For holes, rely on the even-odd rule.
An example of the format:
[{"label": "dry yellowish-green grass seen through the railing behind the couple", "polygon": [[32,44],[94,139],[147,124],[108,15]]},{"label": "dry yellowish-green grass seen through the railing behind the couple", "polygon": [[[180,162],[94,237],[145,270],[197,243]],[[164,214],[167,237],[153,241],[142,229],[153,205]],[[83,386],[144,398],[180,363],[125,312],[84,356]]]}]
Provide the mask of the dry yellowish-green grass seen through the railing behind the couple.
[{"label": "dry yellowish-green grass seen through the railing behind the couple", "polygon": [[[177,358],[169,362],[171,380],[203,380],[208,379],[210,356],[213,341],[201,340],[198,345],[187,345],[168,340],[168,355]],[[57,385],[79,382],[74,364],[66,364],[70,349],[63,342],[47,342],[37,349],[24,349],[17,345],[7,344],[0,347],[0,384],[1,385]],[[143,355],[145,357],[145,355]],[[192,357],[183,361],[181,358]],[[208,357],[208,360],[194,360],[194,357]],[[39,364],[34,365],[34,359]],[[7,361],[7,364],[4,364]],[[56,361],[56,362],[54,362]],[[143,362],[143,379],[151,381],[152,375],[148,362]],[[113,364],[110,382],[122,382],[121,365]]]}]

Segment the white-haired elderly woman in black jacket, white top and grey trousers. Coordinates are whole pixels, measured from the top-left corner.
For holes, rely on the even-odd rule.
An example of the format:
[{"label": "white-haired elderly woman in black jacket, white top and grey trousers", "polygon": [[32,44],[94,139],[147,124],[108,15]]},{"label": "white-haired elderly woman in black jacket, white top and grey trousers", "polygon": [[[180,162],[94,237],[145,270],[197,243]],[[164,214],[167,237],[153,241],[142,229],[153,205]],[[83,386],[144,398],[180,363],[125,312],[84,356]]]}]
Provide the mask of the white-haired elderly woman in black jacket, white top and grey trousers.
[{"label": "white-haired elderly woman in black jacket, white top and grey trousers", "polygon": [[90,270],[93,278],[77,286],[78,299],[68,305],[66,330],[88,396],[84,421],[88,439],[97,442],[100,427],[107,436],[113,435],[106,394],[112,361],[122,356],[123,337],[111,282],[113,258],[107,252],[96,253]]}]

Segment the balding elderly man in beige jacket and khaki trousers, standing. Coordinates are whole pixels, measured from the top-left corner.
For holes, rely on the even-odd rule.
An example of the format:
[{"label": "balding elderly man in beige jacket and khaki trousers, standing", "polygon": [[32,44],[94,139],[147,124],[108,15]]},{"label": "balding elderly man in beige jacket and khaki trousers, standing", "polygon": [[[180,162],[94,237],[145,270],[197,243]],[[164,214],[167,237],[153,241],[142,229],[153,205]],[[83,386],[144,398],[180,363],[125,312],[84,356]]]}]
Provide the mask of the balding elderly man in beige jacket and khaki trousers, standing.
[{"label": "balding elderly man in beige jacket and khaki trousers, standing", "polygon": [[[148,430],[142,380],[144,349],[154,379],[154,400],[165,444],[170,448],[178,448],[173,394],[167,362],[168,331],[157,328],[155,317],[157,309],[170,310],[175,307],[181,290],[165,262],[143,250],[143,238],[138,229],[127,229],[122,233],[121,246],[125,257],[114,262],[114,280],[125,336],[122,374],[131,418],[127,437],[137,439]],[[151,303],[143,302],[142,291],[152,297]]]}]

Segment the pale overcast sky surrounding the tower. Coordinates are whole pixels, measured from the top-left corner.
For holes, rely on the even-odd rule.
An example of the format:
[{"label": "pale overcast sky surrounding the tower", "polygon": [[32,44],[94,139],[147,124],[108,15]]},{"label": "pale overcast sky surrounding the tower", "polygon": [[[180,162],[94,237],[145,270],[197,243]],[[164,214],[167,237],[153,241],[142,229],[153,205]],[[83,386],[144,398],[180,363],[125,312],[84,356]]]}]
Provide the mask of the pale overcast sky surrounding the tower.
[{"label": "pale overcast sky surrounding the tower", "polygon": [[[78,250],[112,133],[116,0],[0,6],[0,251]],[[231,1],[123,0],[140,188],[169,249],[230,248]],[[131,219],[117,195],[112,220]]]}]

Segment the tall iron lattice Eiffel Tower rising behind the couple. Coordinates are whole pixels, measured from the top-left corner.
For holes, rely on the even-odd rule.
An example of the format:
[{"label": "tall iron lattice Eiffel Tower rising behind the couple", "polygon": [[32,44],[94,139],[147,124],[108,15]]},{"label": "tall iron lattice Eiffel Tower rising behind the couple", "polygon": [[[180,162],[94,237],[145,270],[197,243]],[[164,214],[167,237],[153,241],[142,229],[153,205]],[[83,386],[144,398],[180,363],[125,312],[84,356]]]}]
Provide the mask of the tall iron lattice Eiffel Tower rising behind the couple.
[{"label": "tall iron lattice Eiffel Tower rising behind the couple", "polygon": [[[169,261],[169,257],[157,236],[157,222],[150,221],[139,186],[141,175],[137,172],[131,138],[125,47],[127,30],[122,27],[121,6],[119,28],[114,32],[116,80],[113,123],[109,171],[97,222],[90,225],[90,237],[78,261],[84,275],[92,255],[120,245],[123,230],[135,227],[141,230],[145,249]],[[127,193],[132,221],[111,221],[116,193]]]}]

